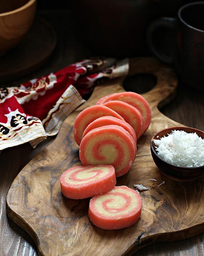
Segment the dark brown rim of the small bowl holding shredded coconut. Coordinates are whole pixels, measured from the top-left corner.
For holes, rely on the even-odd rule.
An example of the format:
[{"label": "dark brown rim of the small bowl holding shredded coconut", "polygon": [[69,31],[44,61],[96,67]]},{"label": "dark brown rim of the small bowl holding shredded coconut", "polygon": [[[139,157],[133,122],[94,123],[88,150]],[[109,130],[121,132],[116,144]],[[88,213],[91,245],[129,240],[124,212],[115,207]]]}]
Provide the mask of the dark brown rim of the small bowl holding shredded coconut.
[{"label": "dark brown rim of the small bowl holding shredded coconut", "polygon": [[[157,151],[155,150],[155,145],[154,145],[153,139],[155,139],[155,137],[157,136],[158,133],[162,133],[162,132],[165,132],[166,130],[170,130],[170,129],[172,129],[172,130],[184,130],[185,132],[186,132],[185,129],[191,129],[192,132],[199,131],[199,132],[203,133],[203,137],[202,137],[202,138],[204,139],[204,132],[203,132],[202,130],[199,130],[199,129],[196,129],[196,128],[192,128],[192,127],[187,127],[187,126],[186,126],[186,127],[185,127],[185,126],[184,126],[184,127],[182,127],[182,126],[168,127],[168,128],[165,128],[165,129],[160,130],[159,132],[157,132],[157,133],[155,133],[155,134],[153,135],[153,137],[152,137],[152,139],[151,139],[151,142],[150,142],[150,146],[151,146],[151,149],[152,149],[152,152],[154,153],[154,155],[157,156],[160,160],[162,160],[165,164],[168,164],[168,165],[170,165],[170,166],[176,167],[176,168],[178,169],[178,171],[179,171],[179,170],[185,171],[185,169],[187,169],[187,170],[196,170],[196,169],[201,169],[201,168],[203,168],[204,165],[198,166],[198,167],[177,166],[177,165],[170,164],[170,163],[166,162],[165,160],[163,160],[162,158],[160,158],[160,156],[157,154]],[[188,132],[188,133],[189,133],[189,132]],[[196,132],[196,133],[197,133],[197,132]],[[198,135],[198,136],[199,136],[199,135]],[[199,136],[199,137],[201,137],[201,136]],[[160,138],[162,138],[162,137],[160,137]]]}]

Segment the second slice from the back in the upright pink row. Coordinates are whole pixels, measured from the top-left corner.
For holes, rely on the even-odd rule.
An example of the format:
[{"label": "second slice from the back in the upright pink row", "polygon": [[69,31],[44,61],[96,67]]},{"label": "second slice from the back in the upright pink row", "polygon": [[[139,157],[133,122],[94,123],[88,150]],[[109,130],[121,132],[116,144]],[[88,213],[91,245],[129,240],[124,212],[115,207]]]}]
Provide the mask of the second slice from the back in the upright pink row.
[{"label": "second slice from the back in the upright pink row", "polygon": [[108,101],[103,106],[117,112],[135,130],[137,139],[141,137],[143,133],[143,116],[137,108],[123,101]]}]

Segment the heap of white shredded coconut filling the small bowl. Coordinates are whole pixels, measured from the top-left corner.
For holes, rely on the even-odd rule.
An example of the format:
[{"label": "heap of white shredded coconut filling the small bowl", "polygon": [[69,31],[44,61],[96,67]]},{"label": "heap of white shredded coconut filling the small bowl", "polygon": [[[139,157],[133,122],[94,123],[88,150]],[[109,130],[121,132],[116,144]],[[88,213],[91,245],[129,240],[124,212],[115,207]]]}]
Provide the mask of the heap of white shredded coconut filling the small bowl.
[{"label": "heap of white shredded coconut filling the small bowl", "polygon": [[153,141],[160,158],[172,165],[182,167],[204,165],[204,139],[196,133],[174,130],[168,136]]}]

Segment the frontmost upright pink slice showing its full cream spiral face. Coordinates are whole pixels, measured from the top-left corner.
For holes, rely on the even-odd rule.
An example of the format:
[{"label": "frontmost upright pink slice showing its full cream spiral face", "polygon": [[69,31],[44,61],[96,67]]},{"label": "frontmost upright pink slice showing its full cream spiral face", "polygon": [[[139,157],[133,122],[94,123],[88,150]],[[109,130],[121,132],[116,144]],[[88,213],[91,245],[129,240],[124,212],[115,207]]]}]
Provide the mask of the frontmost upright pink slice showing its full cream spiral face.
[{"label": "frontmost upright pink slice showing its full cream spiral face", "polygon": [[126,174],[136,156],[136,143],[129,132],[117,125],[90,130],[81,140],[79,158],[83,165],[113,165],[115,175]]}]

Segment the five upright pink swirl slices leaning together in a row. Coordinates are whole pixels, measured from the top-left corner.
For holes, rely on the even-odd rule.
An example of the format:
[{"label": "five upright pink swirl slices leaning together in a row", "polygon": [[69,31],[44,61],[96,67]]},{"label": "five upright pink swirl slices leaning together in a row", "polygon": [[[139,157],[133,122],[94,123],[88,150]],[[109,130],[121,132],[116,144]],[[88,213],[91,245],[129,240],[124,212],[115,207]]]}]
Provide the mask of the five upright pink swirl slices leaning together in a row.
[{"label": "five upright pink swirl slices leaning together in a row", "polygon": [[116,177],[126,174],[137,153],[136,143],[151,121],[148,102],[135,92],[100,98],[81,111],[73,134],[83,165],[113,165]]}]

